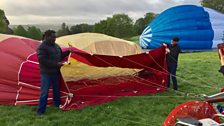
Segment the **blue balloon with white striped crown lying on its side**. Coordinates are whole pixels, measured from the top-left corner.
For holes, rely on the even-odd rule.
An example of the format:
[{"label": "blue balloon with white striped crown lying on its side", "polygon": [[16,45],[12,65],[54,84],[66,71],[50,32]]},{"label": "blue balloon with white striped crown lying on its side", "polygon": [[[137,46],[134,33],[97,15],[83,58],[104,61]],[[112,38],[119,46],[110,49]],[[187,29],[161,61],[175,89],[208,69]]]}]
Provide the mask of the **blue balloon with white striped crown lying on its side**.
[{"label": "blue balloon with white striped crown lying on its side", "polygon": [[142,48],[158,48],[170,43],[172,37],[180,38],[185,50],[217,48],[224,33],[224,15],[210,8],[181,5],[165,10],[157,16],[140,36]]}]

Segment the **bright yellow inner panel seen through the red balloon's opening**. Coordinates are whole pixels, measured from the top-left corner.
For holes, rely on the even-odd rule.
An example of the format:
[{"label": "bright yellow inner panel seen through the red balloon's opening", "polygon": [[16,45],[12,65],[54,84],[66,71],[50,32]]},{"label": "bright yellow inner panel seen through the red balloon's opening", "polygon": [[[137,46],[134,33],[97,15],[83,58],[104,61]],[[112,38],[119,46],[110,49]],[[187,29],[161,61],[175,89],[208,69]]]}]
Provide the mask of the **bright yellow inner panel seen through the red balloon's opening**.
[{"label": "bright yellow inner panel seen through the red balloon's opening", "polygon": [[70,65],[64,65],[61,73],[65,81],[78,81],[82,79],[97,80],[99,78],[133,75],[140,69],[118,67],[95,67],[69,58]]}]

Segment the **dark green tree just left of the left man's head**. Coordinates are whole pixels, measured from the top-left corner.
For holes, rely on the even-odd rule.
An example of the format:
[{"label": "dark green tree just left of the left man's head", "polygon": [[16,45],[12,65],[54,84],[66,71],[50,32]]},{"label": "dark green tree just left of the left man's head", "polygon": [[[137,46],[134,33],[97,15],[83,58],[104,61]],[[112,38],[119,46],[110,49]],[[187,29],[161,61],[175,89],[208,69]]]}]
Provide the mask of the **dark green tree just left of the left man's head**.
[{"label": "dark green tree just left of the left man's head", "polygon": [[27,29],[27,37],[41,40],[42,39],[42,33],[39,28],[36,28],[35,26],[28,27]]}]

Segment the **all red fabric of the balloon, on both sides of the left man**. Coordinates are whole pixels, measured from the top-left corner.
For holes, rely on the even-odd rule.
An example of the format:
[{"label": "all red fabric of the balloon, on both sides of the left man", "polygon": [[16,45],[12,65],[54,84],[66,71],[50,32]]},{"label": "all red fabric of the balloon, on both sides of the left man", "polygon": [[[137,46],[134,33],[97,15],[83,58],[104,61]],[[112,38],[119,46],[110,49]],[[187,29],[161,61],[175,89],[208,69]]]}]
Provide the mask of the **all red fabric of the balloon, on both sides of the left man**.
[{"label": "all red fabric of the balloon, on both sides of the left man", "polygon": [[[37,105],[40,72],[36,55],[39,41],[8,38],[0,42],[0,104]],[[63,49],[64,50],[64,49]],[[79,109],[108,102],[123,96],[163,92],[167,85],[165,47],[130,55],[89,54],[74,48],[69,58],[94,67],[141,69],[136,75],[66,81],[61,76],[61,109]],[[149,74],[150,73],[150,74]],[[48,104],[52,104],[52,90]]]}]

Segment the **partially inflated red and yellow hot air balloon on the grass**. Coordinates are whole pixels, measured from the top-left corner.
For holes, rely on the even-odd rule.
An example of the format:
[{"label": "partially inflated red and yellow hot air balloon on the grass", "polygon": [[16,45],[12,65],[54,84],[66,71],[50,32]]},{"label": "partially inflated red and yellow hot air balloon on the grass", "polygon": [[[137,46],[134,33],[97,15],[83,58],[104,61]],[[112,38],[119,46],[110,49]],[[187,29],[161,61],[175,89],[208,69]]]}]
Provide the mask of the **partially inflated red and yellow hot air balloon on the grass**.
[{"label": "partially inflated red and yellow hot air balloon on the grass", "polygon": [[[141,53],[135,44],[105,35],[67,37],[58,39],[62,46],[75,46],[61,68],[61,109],[78,109],[122,96],[163,92],[167,88],[165,47]],[[0,105],[39,103],[40,68],[36,49],[40,44],[32,39],[0,34]],[[52,103],[50,89],[48,104]]]}]

